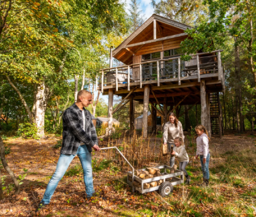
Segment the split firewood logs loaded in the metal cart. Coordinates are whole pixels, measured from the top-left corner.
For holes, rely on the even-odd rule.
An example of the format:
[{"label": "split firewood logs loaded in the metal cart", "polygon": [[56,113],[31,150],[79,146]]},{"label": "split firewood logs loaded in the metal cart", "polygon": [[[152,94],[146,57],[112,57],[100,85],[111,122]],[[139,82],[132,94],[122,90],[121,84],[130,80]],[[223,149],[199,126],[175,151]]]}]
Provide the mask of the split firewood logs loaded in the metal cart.
[{"label": "split firewood logs loaded in the metal cart", "polygon": [[[174,165],[170,173],[175,172],[176,169],[177,169],[177,165]],[[140,179],[150,179],[153,177],[161,176],[161,173],[159,168],[148,167],[147,170],[135,170],[134,175],[140,177]],[[132,181],[132,177],[129,177],[129,180]],[[163,183],[163,179],[158,181],[153,181],[151,183],[144,183],[143,188],[147,189],[147,188],[156,187],[161,185],[162,183]],[[133,184],[134,186],[137,186],[139,188],[141,187],[141,184],[138,181],[134,181]]]}]

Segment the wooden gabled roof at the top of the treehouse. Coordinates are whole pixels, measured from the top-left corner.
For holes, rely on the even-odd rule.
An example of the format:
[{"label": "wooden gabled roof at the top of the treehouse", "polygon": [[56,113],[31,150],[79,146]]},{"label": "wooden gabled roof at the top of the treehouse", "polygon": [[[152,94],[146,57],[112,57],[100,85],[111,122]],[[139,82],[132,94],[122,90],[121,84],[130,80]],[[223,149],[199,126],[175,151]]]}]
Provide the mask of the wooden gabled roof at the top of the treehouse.
[{"label": "wooden gabled roof at the top of the treehouse", "polygon": [[[184,34],[184,30],[192,28],[191,26],[182,24],[175,20],[171,20],[165,17],[161,17],[159,15],[153,14],[146,22],[144,22],[144,24],[142,24],[136,31],[134,31],[134,33],[132,33],[128,38],[126,38],[118,47],[116,47],[115,50],[113,50],[113,57],[120,60],[120,55],[124,56],[124,54],[118,55],[118,53],[122,49],[129,50],[125,48],[125,46],[142,42],[142,41],[153,40],[154,34],[152,34],[152,31],[154,31],[154,24],[153,24],[154,20],[156,20],[157,22],[157,30],[156,30],[158,32],[157,38],[164,38],[164,34],[160,33],[161,31],[163,31],[163,28],[166,28],[169,30],[169,32],[166,33],[166,36],[181,34],[181,33]],[[152,43],[153,42],[154,41],[152,41]],[[138,49],[140,49],[140,47],[134,47],[134,50],[138,50]],[[130,50],[131,56],[134,50]]]}]

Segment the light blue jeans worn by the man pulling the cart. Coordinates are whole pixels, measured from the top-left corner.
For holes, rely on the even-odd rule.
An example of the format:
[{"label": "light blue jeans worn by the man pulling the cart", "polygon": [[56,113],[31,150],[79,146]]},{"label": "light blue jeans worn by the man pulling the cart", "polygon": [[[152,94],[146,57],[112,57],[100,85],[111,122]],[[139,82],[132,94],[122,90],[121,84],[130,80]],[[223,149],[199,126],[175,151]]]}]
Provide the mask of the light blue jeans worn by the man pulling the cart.
[{"label": "light blue jeans worn by the man pulling the cart", "polygon": [[[73,158],[76,154],[61,154],[57,163],[56,171],[54,172],[51,180],[47,184],[44,198],[41,200],[41,203],[49,204],[51,197],[56,190],[59,181],[64,176],[67,171],[68,166],[70,165]],[[86,189],[86,194],[92,197],[94,193],[93,189],[93,177],[92,177],[92,155],[88,151],[87,146],[79,146],[77,150],[77,156],[79,157],[83,171],[84,171],[84,184]]]}]

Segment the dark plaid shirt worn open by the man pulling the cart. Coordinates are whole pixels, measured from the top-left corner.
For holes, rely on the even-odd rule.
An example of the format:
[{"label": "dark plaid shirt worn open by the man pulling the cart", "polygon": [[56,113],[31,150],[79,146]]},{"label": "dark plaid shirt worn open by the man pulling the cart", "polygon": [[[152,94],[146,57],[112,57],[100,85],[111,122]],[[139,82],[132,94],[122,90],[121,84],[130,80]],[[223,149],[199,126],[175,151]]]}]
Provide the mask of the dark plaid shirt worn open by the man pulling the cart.
[{"label": "dark plaid shirt worn open by the man pulling the cart", "polygon": [[[85,130],[83,130],[83,114],[85,116]],[[95,127],[92,123],[92,116],[88,110],[83,111],[77,107],[76,103],[67,108],[62,117],[63,120],[63,141],[61,154],[76,154],[80,142],[84,142],[88,151],[92,152],[92,147],[98,145],[98,138]]]}]

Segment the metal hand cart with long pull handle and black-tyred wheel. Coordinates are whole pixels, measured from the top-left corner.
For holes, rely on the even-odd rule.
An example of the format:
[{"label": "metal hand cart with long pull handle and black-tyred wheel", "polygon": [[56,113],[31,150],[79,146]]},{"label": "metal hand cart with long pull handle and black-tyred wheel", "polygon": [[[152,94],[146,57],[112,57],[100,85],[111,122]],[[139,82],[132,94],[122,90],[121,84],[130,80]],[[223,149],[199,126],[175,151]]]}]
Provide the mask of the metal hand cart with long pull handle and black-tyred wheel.
[{"label": "metal hand cart with long pull handle and black-tyred wheel", "polygon": [[[134,190],[137,190],[140,193],[147,193],[147,192],[150,192],[150,191],[159,190],[160,195],[162,197],[166,197],[167,195],[172,193],[173,186],[175,186],[177,184],[184,183],[184,174],[183,174],[183,172],[181,170],[175,170],[174,173],[168,174],[166,172],[166,169],[171,170],[172,168],[167,166],[167,165],[152,167],[152,168],[164,169],[164,172],[162,172],[160,174],[160,176],[156,176],[156,177],[149,178],[149,179],[140,179],[140,177],[134,175],[134,168],[132,167],[131,163],[129,163],[129,161],[125,158],[125,156],[120,152],[120,150],[117,147],[104,147],[101,150],[104,150],[104,149],[116,149],[118,151],[118,153],[121,154],[121,156],[124,158],[124,160],[132,168],[132,171],[127,172],[127,184],[129,184],[132,187],[133,192],[134,192]],[[141,170],[146,170],[146,169],[143,168]],[[181,177],[177,177],[177,176],[181,176]],[[130,177],[131,181],[129,181],[129,177]],[[161,185],[156,186],[156,187],[152,187],[152,188],[147,188],[147,189],[143,188],[143,184],[151,183],[153,181],[159,181],[159,180],[163,180],[163,183]],[[138,181],[138,183],[141,184],[141,188],[139,188],[138,186],[134,186],[134,184],[133,184],[134,181]]]}]

